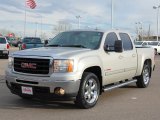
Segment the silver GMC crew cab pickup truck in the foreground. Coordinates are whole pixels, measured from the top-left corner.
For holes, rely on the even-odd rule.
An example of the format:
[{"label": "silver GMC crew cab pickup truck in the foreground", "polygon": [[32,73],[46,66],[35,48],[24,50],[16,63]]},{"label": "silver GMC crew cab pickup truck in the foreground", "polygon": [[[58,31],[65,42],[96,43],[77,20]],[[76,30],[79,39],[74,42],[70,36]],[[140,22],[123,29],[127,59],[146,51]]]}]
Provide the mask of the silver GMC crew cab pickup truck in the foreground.
[{"label": "silver GMC crew cab pickup truck in the foreground", "polygon": [[73,30],[46,47],[11,54],[6,84],[24,99],[73,100],[91,108],[104,91],[131,83],[146,88],[154,67],[154,49],[135,48],[127,32]]}]

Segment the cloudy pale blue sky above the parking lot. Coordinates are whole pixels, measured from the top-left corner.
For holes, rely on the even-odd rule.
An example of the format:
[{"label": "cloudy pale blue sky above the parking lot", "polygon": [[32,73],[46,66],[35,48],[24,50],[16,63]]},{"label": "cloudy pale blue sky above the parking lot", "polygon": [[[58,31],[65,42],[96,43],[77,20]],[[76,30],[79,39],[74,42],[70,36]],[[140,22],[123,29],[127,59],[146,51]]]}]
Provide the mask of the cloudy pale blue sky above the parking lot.
[{"label": "cloudy pale blue sky above the parking lot", "polygon": [[[77,28],[81,16],[81,28],[111,28],[111,0],[35,0],[35,9],[27,8],[26,34],[33,36],[42,18],[42,32],[52,36],[51,32],[58,21],[67,21],[72,28]],[[136,22],[142,22],[144,30],[156,34],[156,10],[153,6],[159,5],[160,0],[113,0],[114,1],[114,28],[135,32]],[[25,0],[0,0],[0,29],[15,31],[23,35]]]}]

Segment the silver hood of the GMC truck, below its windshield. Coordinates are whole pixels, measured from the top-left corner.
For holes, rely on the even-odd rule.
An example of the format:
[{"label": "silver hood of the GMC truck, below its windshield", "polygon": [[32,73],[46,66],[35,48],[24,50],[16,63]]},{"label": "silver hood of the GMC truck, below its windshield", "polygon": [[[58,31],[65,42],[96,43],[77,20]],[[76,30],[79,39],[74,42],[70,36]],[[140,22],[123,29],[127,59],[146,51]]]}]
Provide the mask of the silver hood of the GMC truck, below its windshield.
[{"label": "silver hood of the GMC truck, below its windshield", "polygon": [[43,57],[71,57],[79,53],[91,51],[86,48],[72,47],[41,47],[14,52],[13,56],[43,56]]}]

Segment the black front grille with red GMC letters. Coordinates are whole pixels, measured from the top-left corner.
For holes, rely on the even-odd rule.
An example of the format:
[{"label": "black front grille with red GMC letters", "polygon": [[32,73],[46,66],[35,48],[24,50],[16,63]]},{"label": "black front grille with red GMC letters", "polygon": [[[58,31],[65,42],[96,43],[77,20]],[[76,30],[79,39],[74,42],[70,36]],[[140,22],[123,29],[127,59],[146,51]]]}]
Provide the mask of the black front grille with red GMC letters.
[{"label": "black front grille with red GMC letters", "polygon": [[[22,64],[25,65],[22,66]],[[49,59],[14,58],[14,71],[30,74],[48,74],[49,64]]]}]

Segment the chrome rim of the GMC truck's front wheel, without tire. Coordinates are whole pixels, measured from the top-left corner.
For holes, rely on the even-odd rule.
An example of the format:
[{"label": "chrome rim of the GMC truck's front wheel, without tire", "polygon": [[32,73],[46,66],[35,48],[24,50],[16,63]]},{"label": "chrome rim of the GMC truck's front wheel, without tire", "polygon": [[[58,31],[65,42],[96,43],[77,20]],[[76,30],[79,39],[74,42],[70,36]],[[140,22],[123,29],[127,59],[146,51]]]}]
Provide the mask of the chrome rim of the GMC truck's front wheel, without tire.
[{"label": "chrome rim of the GMC truck's front wheel, without tire", "polygon": [[98,99],[98,87],[95,79],[89,79],[84,88],[84,98],[86,102],[93,103]]}]

